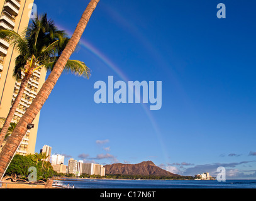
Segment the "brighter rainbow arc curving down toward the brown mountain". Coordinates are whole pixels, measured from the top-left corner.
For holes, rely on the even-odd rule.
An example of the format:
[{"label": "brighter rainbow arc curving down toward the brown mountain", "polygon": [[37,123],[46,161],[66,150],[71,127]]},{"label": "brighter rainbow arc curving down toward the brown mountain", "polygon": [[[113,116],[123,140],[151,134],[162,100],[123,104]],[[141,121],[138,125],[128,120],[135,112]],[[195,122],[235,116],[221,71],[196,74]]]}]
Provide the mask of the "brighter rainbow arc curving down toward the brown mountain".
[{"label": "brighter rainbow arc curving down toward the brown mountain", "polygon": [[[60,30],[65,30],[68,35],[72,36],[71,31],[63,28],[59,24],[57,24],[57,27]],[[89,50],[89,52],[91,52],[93,55],[95,55],[97,58],[99,58],[107,67],[111,68],[111,70],[113,70],[123,81],[128,83],[129,79],[125,75],[125,73],[123,73],[120,70],[120,68],[118,68],[108,57],[106,57],[106,55],[104,55],[102,52],[100,52],[95,46],[93,46],[91,43],[89,43],[88,41],[86,41],[82,38],[79,41],[79,45],[83,46],[84,48]],[[152,124],[153,130],[157,134],[157,138],[159,139],[159,143],[161,145],[162,152],[165,157],[165,162],[167,163],[167,161],[168,161],[167,150],[165,148],[165,143],[164,143],[164,140],[162,139],[162,134],[160,133],[159,126],[157,125],[157,122],[155,121],[155,118],[153,117],[152,112],[148,109],[146,104],[140,103],[140,105],[142,106],[142,109],[145,112],[145,114],[147,115],[150,123]]]}]

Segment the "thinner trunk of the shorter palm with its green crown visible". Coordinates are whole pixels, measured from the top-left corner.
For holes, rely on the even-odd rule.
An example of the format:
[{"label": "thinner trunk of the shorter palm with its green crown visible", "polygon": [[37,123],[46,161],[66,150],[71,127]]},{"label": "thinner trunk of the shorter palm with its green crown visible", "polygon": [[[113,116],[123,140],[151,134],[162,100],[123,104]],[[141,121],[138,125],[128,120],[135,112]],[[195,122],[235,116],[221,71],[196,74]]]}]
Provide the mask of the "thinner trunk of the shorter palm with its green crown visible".
[{"label": "thinner trunk of the shorter palm with its green crown visible", "polygon": [[29,74],[25,74],[25,76],[23,77],[23,79],[21,80],[21,85],[19,87],[19,92],[16,96],[16,99],[13,102],[13,105],[11,106],[11,109],[9,110],[8,116],[6,117],[6,121],[4,122],[3,128],[0,132],[0,146],[4,141],[4,137],[6,136],[6,133],[8,131],[8,128],[11,124],[11,120],[13,119],[14,116],[14,112],[16,111],[19,102],[22,98],[23,92],[25,90],[26,84],[28,83],[28,80],[30,79],[30,75]]}]

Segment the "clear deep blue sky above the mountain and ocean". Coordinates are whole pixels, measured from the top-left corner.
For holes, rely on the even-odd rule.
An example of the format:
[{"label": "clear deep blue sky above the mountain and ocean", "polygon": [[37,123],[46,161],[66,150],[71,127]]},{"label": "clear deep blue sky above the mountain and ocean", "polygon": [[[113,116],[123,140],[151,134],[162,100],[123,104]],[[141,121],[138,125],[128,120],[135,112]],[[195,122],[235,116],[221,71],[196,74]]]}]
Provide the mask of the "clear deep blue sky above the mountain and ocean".
[{"label": "clear deep blue sky above the mountain and ocean", "polygon": [[[70,35],[89,1],[35,0]],[[226,19],[218,19],[218,3]],[[72,59],[89,80],[63,73],[42,108],[36,150],[95,163],[155,165],[181,175],[225,166],[256,178],[254,1],[101,0]],[[162,108],[96,104],[94,83],[162,81]]]}]

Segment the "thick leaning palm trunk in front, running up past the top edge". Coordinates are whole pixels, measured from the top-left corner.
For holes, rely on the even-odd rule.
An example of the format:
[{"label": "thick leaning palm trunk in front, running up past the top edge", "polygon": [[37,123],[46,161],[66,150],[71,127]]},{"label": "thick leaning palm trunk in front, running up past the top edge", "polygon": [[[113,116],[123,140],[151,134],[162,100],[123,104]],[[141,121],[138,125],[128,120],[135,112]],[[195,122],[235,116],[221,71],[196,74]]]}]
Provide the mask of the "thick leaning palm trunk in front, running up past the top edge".
[{"label": "thick leaning palm trunk in front, running up past the top edge", "polygon": [[19,120],[16,128],[13,131],[13,134],[9,137],[8,141],[4,145],[1,153],[0,153],[0,178],[2,180],[6,168],[8,168],[9,163],[11,162],[11,158],[15,154],[16,149],[18,148],[19,144],[21,143],[22,138],[25,136],[27,131],[27,125],[30,124],[33,119],[36,117],[36,114],[42,109],[43,104],[48,99],[50,93],[52,92],[53,87],[55,86],[58,78],[60,77],[64,67],[69,60],[70,55],[75,50],[77,43],[79,42],[84,29],[87,26],[89,19],[94,11],[94,9],[99,3],[99,0],[91,0],[88,4],[86,10],[82,14],[82,17],[75,28],[75,31],[72,37],[67,43],[62,55],[58,58],[55,67],[53,68],[52,72],[48,76],[48,79],[43,84],[42,88],[36,95],[35,99],[31,103],[30,107],[28,107],[27,111],[21,119]]}]

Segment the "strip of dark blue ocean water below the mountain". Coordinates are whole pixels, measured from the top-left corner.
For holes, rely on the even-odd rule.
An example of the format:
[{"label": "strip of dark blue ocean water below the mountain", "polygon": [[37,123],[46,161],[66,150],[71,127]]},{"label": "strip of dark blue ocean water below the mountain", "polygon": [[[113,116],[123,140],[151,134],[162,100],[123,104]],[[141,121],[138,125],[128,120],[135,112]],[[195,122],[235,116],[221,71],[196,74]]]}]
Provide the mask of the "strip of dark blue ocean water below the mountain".
[{"label": "strip of dark blue ocean water below the mountain", "polygon": [[75,188],[256,188],[256,180],[109,180],[69,179],[55,180]]}]

